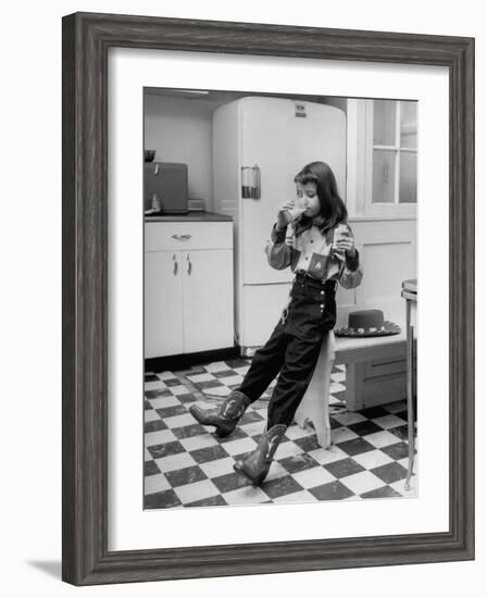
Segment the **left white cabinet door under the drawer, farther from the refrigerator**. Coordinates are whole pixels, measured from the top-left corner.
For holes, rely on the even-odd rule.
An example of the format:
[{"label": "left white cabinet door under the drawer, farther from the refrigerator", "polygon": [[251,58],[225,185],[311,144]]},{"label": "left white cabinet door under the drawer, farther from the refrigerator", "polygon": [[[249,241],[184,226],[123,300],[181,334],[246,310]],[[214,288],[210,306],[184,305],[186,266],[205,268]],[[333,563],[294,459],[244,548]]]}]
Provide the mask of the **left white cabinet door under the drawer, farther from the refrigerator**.
[{"label": "left white cabinet door under the drawer, farther from the refrigerator", "polygon": [[183,353],[183,284],[179,251],[145,253],[145,357]]}]

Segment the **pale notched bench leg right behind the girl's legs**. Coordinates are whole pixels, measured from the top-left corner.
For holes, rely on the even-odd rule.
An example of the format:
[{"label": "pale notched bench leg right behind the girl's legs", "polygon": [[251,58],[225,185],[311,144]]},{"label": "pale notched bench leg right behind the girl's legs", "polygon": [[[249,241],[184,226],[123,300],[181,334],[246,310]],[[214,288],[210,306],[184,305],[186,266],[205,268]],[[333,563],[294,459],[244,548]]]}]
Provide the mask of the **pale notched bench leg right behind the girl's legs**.
[{"label": "pale notched bench leg right behind the girl's legs", "polygon": [[328,398],[335,345],[335,333],[329,331],[323,340],[313,377],[295,414],[295,421],[301,427],[305,426],[307,421],[313,422],[317,441],[323,448],[332,443]]}]

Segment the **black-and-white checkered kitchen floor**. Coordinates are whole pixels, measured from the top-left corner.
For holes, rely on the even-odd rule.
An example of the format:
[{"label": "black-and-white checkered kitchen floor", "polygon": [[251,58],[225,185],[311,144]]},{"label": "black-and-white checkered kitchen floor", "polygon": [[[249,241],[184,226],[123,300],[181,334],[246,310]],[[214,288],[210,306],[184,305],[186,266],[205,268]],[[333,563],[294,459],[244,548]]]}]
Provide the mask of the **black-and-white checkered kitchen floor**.
[{"label": "black-and-white checkered kitchen floor", "polygon": [[274,383],[227,438],[196,422],[188,408],[195,401],[209,409],[221,404],[238,388],[249,364],[248,359],[233,359],[146,373],[146,509],[417,496],[415,471],[411,489],[404,489],[405,401],[347,412],[345,366],[335,366],[332,374],[332,447],[317,444],[312,426],[292,424],[260,487],[235,473],[235,460],[255,448],[264,429]]}]

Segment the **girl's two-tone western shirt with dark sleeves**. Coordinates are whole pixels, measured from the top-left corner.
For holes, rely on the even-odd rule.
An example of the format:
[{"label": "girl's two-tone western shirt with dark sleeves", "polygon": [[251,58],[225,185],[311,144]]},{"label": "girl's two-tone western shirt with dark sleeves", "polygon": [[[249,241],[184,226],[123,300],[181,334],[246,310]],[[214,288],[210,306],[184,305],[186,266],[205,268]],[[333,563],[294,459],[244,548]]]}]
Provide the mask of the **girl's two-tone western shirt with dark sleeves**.
[{"label": "girl's two-tone western shirt with dark sleeves", "polygon": [[[338,226],[338,225],[337,225]],[[349,234],[352,234],[347,224]],[[344,288],[355,288],[363,277],[359,252],[353,259],[333,249],[335,228],[322,231],[313,223],[302,227],[299,222],[287,231],[277,231],[274,224],[271,239],[265,246],[272,267],[284,270],[290,266],[297,274],[302,272],[319,281],[338,281]]]}]

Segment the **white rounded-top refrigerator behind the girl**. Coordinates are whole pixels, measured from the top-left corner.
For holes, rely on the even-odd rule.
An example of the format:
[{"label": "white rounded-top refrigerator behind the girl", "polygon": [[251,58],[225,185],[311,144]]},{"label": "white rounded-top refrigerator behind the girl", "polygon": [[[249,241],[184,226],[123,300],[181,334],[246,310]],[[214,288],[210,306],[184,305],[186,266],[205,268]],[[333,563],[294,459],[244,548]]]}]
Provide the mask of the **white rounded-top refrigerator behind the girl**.
[{"label": "white rounded-top refrigerator behind the girl", "polygon": [[287,302],[292,273],[269,265],[264,247],[279,207],[296,197],[295,175],[321,160],[345,200],[345,112],[332,105],[247,97],[213,113],[214,210],[234,217],[236,344],[264,345]]}]

